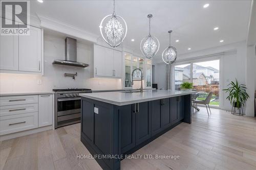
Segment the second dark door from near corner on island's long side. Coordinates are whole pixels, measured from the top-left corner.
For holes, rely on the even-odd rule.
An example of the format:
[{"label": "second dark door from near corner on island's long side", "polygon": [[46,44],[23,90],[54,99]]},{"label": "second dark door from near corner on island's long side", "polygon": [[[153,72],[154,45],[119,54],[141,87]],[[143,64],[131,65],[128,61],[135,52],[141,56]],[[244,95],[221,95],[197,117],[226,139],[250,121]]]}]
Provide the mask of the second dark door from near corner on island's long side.
[{"label": "second dark door from near corner on island's long side", "polygon": [[151,137],[151,102],[136,104],[136,145]]}]

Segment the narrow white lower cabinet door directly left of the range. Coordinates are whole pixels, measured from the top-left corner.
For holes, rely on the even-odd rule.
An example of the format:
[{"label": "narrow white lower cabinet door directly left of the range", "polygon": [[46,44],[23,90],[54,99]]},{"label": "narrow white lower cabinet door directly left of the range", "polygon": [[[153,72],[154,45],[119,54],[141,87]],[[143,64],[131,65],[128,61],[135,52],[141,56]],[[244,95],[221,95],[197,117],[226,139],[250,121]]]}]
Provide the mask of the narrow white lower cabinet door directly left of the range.
[{"label": "narrow white lower cabinet door directly left of the range", "polygon": [[38,127],[52,125],[52,94],[38,95]]}]

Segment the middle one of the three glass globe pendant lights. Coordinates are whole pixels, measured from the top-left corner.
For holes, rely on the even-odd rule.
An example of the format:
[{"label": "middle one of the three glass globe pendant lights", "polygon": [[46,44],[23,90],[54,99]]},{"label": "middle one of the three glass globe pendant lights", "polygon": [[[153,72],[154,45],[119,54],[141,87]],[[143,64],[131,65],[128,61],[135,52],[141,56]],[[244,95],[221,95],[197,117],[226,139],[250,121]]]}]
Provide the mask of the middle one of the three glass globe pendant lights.
[{"label": "middle one of the three glass globe pendant lights", "polygon": [[[153,17],[152,14],[147,15],[148,18]],[[140,42],[140,51],[141,53],[148,59],[154,57],[158,50],[159,50],[159,40],[157,37],[154,37],[151,35],[151,28],[150,28],[150,33],[148,34],[147,37],[143,38]]]}]

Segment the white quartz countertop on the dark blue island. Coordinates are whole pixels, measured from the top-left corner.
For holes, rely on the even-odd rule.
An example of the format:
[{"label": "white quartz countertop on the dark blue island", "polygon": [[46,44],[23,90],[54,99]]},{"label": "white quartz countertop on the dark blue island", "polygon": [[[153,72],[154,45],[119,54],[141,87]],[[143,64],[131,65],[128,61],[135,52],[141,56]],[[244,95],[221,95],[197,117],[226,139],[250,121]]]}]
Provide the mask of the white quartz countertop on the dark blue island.
[{"label": "white quartz countertop on the dark blue island", "polygon": [[133,92],[126,93],[123,91],[112,92],[94,92],[80,93],[84,98],[89,98],[113,105],[123,106],[140,102],[153,101],[164,98],[172,98],[175,96],[191,94],[193,91],[173,91],[173,90],[146,90],[143,93]]}]

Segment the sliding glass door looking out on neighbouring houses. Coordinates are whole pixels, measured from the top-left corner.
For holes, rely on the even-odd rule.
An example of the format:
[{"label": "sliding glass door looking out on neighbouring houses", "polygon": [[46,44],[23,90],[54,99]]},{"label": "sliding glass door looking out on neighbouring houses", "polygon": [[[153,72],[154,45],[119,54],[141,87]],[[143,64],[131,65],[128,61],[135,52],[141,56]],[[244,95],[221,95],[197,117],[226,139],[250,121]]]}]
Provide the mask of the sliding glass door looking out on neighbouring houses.
[{"label": "sliding glass door looking out on neighbouring houses", "polygon": [[214,94],[209,105],[220,106],[219,59],[175,65],[175,90],[184,90],[181,88],[184,82],[193,83],[193,90],[198,94],[197,100],[205,100],[212,91]]}]

